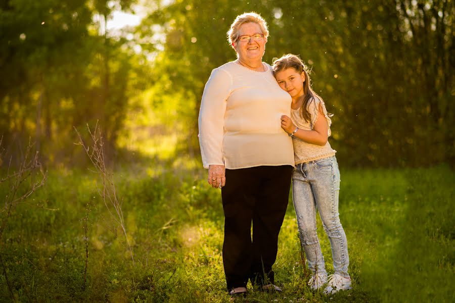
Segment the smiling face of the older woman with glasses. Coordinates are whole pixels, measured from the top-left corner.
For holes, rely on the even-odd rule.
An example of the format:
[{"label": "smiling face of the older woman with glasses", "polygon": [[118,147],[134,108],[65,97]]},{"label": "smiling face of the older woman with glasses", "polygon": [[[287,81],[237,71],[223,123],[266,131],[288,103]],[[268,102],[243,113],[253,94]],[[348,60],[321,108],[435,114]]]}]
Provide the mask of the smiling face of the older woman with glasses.
[{"label": "smiling face of the older woman with glasses", "polygon": [[[252,36],[255,34],[262,34],[259,24],[249,22],[240,26],[239,37],[244,35]],[[237,39],[237,41],[234,42],[234,48],[241,61],[262,61],[266,42],[267,39],[265,37],[259,41],[255,41],[252,37],[250,37],[250,39],[246,42],[242,42]]]}]

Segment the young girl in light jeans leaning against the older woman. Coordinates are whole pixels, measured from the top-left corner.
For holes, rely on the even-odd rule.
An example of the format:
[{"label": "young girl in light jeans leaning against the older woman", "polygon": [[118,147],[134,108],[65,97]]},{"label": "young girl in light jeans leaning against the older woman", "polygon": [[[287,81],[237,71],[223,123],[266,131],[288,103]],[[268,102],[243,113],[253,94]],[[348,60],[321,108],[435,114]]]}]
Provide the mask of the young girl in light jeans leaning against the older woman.
[{"label": "young girl in light jeans leaning against the older woman", "polygon": [[285,55],[275,60],[273,71],[280,87],[292,97],[291,117],[282,116],[281,127],[294,143],[296,167],[292,175],[292,196],[300,239],[313,273],[308,285],[319,289],[327,283],[324,257],[316,234],[317,208],[329,236],[335,270],[329,276],[324,292],[350,289],[347,241],[338,216],[340,172],[336,151],[327,140],[331,115],[327,113],[323,99],[311,89],[307,67],[299,57]]}]

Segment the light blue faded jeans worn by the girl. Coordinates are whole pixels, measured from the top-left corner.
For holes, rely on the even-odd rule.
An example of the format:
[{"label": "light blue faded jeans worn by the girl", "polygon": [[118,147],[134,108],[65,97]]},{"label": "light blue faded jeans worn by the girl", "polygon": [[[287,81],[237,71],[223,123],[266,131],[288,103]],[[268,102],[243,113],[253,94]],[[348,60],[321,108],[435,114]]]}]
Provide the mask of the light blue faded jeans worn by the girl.
[{"label": "light blue faded jeans worn by the girl", "polygon": [[349,277],[346,234],[338,213],[339,192],[340,171],[335,156],[296,165],[292,173],[292,199],[308,268],[327,274],[316,233],[317,209],[329,236],[335,273]]}]

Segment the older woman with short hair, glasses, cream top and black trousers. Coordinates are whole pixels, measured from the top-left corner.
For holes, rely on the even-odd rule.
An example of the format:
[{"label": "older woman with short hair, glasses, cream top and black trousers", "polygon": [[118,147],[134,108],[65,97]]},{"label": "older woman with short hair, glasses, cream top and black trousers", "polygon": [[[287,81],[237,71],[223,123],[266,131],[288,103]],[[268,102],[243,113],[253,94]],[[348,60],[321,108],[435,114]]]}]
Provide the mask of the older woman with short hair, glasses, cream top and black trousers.
[{"label": "older woman with short hair, glasses, cream top and black trousers", "polygon": [[248,279],[261,290],[281,291],[274,285],[272,265],[294,151],[280,125],[280,117],[290,115],[291,97],[262,62],[267,37],[266,22],[258,14],[235,19],[228,40],[237,60],[212,71],[199,113],[203,165],[209,184],[221,188],[222,255],[231,295],[245,294]]}]

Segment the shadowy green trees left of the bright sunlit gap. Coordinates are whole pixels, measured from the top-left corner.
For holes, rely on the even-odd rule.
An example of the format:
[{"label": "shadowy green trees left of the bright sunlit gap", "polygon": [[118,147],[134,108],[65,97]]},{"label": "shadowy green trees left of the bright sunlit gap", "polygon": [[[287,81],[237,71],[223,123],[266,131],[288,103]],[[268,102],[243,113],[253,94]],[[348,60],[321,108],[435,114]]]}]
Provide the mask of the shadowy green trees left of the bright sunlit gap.
[{"label": "shadowy green trees left of the bright sunlit gap", "polygon": [[96,121],[112,158],[144,69],[102,19],[134,2],[13,0],[0,8],[0,133],[13,159],[32,136],[48,163],[74,164],[73,127]]}]

